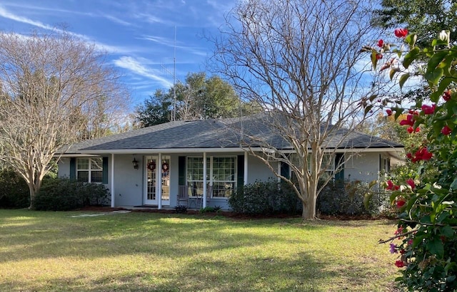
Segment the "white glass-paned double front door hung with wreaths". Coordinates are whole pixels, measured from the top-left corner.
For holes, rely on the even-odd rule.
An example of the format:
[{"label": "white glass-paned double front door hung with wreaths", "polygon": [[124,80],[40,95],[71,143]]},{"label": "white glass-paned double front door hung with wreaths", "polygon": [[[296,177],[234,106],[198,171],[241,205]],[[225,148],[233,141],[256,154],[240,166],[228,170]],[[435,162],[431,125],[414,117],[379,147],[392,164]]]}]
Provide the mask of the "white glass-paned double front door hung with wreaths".
[{"label": "white glass-paned double front door hung with wreaths", "polygon": [[[147,156],[146,160],[146,189],[144,204],[158,205],[159,190],[161,190],[162,205],[170,204],[170,157],[163,155],[161,165],[159,165],[159,157]],[[160,167],[160,168],[159,168]],[[161,179],[157,179],[159,177]]]}]

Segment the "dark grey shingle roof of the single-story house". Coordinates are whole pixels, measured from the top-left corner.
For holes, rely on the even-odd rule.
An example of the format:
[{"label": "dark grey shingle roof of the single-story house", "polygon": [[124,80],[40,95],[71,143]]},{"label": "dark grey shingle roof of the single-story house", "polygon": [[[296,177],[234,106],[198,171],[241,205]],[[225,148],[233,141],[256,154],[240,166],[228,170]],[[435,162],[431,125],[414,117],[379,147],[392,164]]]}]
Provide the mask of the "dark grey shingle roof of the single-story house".
[{"label": "dark grey shingle roof of the single-story house", "polygon": [[[161,125],[144,127],[138,130],[131,130],[117,135],[101,137],[94,140],[86,140],[71,145],[66,153],[78,153],[80,150],[90,152],[91,150],[148,150],[148,149],[177,149],[177,148],[231,148],[240,147],[241,125],[243,130],[251,135],[261,137],[277,149],[287,150],[291,146],[281,137],[268,122],[263,122],[261,116],[253,115],[246,118],[232,118],[221,120],[194,120],[174,121]],[[344,135],[346,130],[339,130],[338,135]],[[333,140],[337,141],[338,137]],[[336,143],[336,142],[335,142]],[[253,147],[261,146],[253,142]],[[257,145],[256,145],[257,144]],[[333,145],[338,148],[386,148],[403,147],[396,142],[373,137],[360,132],[352,132],[343,145]]]}]

